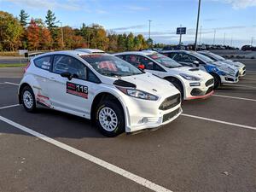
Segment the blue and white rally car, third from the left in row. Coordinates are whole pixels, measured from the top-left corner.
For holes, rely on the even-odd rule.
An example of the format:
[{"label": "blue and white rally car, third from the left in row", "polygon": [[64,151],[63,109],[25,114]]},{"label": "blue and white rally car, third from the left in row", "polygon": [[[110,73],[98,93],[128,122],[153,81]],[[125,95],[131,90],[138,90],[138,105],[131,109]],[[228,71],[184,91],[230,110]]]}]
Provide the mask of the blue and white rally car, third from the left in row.
[{"label": "blue and white rally car, third from the left in row", "polygon": [[210,73],[214,78],[214,88],[217,89],[220,84],[234,84],[238,82],[238,70],[229,64],[221,61],[213,61],[205,55],[195,51],[173,50],[162,51],[162,54],[181,63],[183,66],[197,67]]}]

